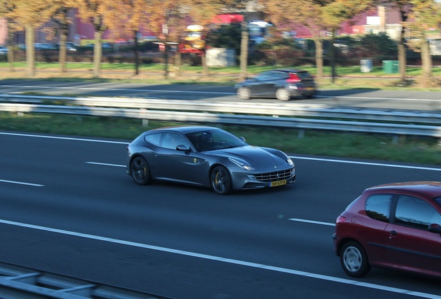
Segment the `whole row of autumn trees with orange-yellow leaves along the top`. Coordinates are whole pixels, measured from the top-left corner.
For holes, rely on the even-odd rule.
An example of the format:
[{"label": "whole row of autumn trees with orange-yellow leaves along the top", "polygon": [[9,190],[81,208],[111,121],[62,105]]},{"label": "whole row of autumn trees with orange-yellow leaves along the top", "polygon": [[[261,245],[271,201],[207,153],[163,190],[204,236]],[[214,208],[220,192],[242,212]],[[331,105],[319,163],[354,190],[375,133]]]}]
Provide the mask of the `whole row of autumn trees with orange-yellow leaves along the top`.
[{"label": "whole row of autumn trees with orange-yellow leaves along the top", "polygon": [[[354,21],[356,16],[376,8],[386,6],[398,10],[401,14],[401,38],[399,39],[398,57],[401,79],[406,76],[406,51],[404,33],[412,33],[415,51],[422,54],[424,75],[431,77],[431,55],[426,30],[439,28],[441,24],[440,3],[435,0],[0,0],[0,17],[8,21],[10,37],[17,30],[26,31],[26,60],[28,75],[35,75],[34,32],[43,24],[53,20],[58,24],[60,35],[60,67],[65,71],[67,30],[69,11],[76,10],[83,21],[94,26],[94,76],[101,73],[101,40],[105,30],[114,37],[132,36],[135,39],[137,55],[137,36],[139,30],[148,28],[164,41],[178,42],[180,33],[189,21],[193,24],[207,25],[215,15],[222,12],[241,12],[245,16],[242,25],[241,69],[246,76],[248,61],[248,30],[246,16],[254,10],[265,12],[266,19],[276,28],[295,30],[293,24],[303,24],[311,31],[315,42],[315,65],[318,77],[323,75],[323,41],[329,38],[324,32],[331,32],[331,66],[334,67],[334,39],[336,32],[345,21]],[[12,38],[10,38],[12,40]],[[167,53],[166,53],[167,54]],[[8,55],[13,55],[9,51]],[[166,57],[167,59],[167,57]],[[13,57],[8,57],[12,62]],[[137,62],[137,57],[135,57]],[[202,59],[202,64],[204,60]],[[12,65],[12,64],[11,64]],[[138,63],[135,65],[138,73]],[[167,74],[167,69],[166,69]]]}]

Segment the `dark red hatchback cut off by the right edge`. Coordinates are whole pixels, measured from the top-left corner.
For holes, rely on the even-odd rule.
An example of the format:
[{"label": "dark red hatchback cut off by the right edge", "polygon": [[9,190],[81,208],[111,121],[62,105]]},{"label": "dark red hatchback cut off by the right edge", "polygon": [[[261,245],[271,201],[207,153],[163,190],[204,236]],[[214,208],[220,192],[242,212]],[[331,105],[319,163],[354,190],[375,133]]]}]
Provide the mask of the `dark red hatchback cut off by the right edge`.
[{"label": "dark red hatchback cut off by the right edge", "polygon": [[441,182],[366,189],[337,218],[332,237],[349,276],[377,266],[441,278]]}]

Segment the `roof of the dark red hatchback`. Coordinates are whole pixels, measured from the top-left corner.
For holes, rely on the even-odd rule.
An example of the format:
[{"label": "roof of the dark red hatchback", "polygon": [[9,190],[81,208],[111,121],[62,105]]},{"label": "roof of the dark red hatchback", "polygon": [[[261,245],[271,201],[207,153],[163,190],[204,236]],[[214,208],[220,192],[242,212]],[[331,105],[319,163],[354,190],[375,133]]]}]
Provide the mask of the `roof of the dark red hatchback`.
[{"label": "roof of the dark red hatchback", "polygon": [[403,190],[424,194],[426,197],[441,197],[441,182],[438,181],[412,181],[404,183],[389,183],[377,185],[367,190]]}]

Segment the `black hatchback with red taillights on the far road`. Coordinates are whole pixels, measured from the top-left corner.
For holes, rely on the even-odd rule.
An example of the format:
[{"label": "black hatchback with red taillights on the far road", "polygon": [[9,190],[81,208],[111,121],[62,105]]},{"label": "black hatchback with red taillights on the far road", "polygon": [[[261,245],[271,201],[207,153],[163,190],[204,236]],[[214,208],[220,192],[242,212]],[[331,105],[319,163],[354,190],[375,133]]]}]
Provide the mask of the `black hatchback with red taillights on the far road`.
[{"label": "black hatchback with red taillights on the far road", "polygon": [[315,81],[311,74],[300,69],[276,69],[264,71],[254,78],[235,86],[236,94],[243,100],[250,98],[277,98],[290,100],[293,97],[312,98]]}]

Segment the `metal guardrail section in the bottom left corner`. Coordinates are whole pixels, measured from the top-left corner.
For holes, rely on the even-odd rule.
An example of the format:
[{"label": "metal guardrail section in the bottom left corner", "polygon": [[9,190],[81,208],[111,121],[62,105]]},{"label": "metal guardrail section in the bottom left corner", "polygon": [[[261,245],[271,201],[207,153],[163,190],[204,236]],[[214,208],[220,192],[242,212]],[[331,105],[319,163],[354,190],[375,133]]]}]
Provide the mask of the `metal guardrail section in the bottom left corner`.
[{"label": "metal guardrail section in the bottom left corner", "polygon": [[171,299],[0,262],[2,299]]}]

